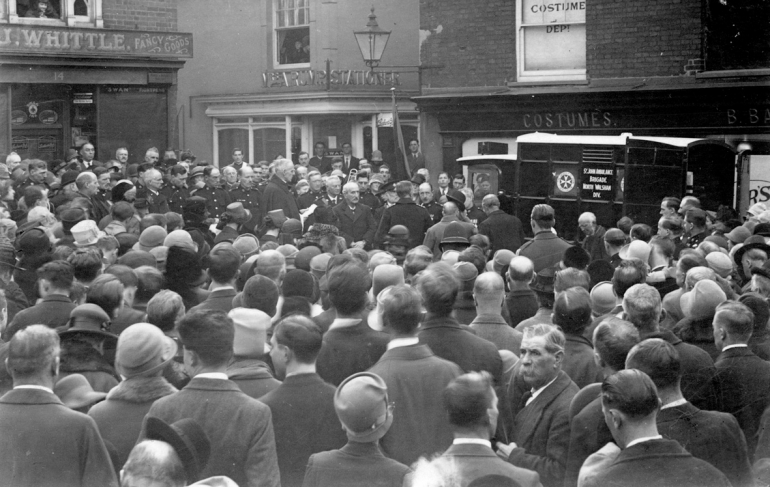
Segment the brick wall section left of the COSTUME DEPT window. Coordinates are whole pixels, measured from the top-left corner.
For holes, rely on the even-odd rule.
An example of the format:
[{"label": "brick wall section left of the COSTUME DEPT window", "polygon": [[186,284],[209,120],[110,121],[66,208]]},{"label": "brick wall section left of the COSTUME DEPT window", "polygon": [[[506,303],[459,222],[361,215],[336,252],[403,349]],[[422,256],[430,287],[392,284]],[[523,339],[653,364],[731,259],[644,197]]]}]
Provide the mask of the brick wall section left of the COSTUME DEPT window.
[{"label": "brick wall section left of the COSTUME DEPT window", "polygon": [[515,9],[515,0],[420,0],[420,62],[445,65],[425,70],[423,85],[497,86],[513,80]]}]

